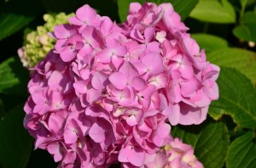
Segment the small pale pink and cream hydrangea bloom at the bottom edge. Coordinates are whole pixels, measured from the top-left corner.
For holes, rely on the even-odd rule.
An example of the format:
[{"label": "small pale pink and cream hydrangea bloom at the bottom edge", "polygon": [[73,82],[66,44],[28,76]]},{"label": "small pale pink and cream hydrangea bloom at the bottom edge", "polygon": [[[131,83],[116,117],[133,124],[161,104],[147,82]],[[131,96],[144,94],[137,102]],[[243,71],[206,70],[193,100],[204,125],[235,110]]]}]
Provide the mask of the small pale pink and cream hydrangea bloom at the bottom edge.
[{"label": "small pale pink and cream hydrangea bloom at the bottom edge", "polygon": [[146,167],[171,168],[171,167],[191,167],[202,168],[203,165],[195,158],[194,149],[175,138],[172,143],[158,151],[153,161],[147,163]]}]

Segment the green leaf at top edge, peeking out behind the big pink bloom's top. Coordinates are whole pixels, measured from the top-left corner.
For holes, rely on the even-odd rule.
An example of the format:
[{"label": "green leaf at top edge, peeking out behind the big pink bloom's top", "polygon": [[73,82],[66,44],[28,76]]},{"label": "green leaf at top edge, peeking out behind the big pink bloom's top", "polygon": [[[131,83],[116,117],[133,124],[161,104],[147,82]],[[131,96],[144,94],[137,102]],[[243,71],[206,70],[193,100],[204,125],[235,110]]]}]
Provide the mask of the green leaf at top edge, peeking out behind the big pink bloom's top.
[{"label": "green leaf at top edge, peeking out behind the big pink bloom's top", "polygon": [[[189,13],[195,8],[195,5],[198,3],[199,0],[186,0],[186,1],[177,1],[177,0],[148,0],[148,3],[172,3],[174,10],[180,14],[182,20],[185,20]],[[117,0],[118,7],[119,7],[119,18],[122,22],[126,20],[126,16],[129,11],[129,5],[132,2],[144,3],[144,0]]]}]

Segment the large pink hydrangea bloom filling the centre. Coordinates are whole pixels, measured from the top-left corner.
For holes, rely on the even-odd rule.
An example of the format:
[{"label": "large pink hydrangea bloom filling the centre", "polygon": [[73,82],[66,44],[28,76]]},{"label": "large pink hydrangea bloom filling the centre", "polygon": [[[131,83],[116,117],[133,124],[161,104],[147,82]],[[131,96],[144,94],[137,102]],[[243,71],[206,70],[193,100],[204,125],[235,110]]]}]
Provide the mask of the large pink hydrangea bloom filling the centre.
[{"label": "large pink hydrangea bloom filling the centre", "polygon": [[171,125],[206,119],[219,68],[170,3],[131,3],[123,25],[89,5],[68,21],[32,69],[24,108],[36,148],[60,167],[145,167],[172,143]]}]

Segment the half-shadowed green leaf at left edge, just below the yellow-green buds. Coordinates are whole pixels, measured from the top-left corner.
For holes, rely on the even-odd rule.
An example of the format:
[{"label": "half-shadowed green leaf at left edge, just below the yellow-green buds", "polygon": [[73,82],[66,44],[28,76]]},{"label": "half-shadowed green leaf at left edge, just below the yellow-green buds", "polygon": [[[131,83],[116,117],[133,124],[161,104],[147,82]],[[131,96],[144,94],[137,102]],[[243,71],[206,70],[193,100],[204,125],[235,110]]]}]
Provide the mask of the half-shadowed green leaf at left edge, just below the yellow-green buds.
[{"label": "half-shadowed green leaf at left edge, just below the yellow-green buds", "polygon": [[0,92],[26,96],[28,80],[28,70],[22,66],[18,56],[0,64]]}]

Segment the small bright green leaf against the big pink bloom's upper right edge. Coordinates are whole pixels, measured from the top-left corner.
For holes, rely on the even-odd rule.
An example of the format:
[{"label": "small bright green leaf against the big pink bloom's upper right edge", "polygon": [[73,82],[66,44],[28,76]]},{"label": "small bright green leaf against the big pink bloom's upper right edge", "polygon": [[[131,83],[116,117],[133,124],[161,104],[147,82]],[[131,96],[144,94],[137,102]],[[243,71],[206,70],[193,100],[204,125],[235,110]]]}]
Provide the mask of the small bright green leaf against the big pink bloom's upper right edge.
[{"label": "small bright green leaf against the big pink bloom's upper right edge", "polygon": [[211,53],[221,48],[229,48],[228,42],[218,36],[196,33],[191,34],[191,37],[195,39],[200,48],[206,50],[206,53]]}]

